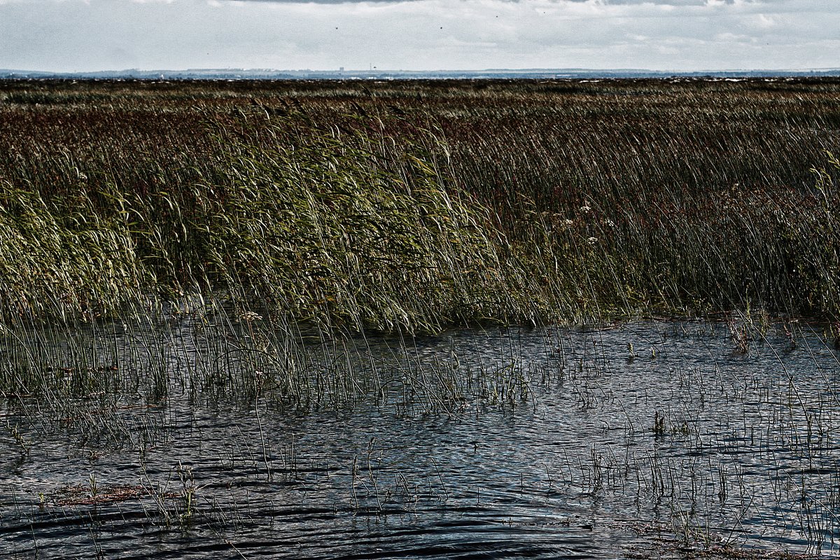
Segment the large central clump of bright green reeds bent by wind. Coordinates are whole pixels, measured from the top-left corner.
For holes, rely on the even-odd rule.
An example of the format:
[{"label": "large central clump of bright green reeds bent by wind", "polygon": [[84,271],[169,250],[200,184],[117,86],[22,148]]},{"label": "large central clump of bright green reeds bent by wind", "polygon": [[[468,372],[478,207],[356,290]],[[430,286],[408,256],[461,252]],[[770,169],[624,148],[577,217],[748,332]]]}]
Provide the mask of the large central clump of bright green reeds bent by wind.
[{"label": "large central clump of bright green reeds bent by wind", "polygon": [[533,312],[488,210],[462,198],[422,146],[289,120],[257,130],[272,135],[269,149],[249,129],[220,139],[229,175],[213,215],[199,218],[211,284],[223,276],[292,317],[352,330]]}]

